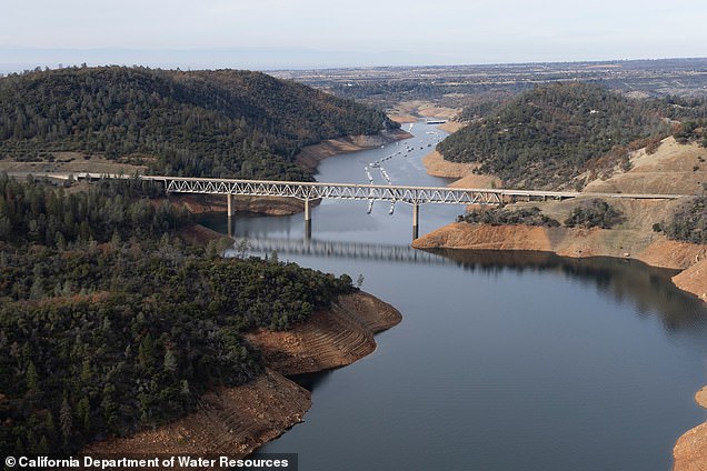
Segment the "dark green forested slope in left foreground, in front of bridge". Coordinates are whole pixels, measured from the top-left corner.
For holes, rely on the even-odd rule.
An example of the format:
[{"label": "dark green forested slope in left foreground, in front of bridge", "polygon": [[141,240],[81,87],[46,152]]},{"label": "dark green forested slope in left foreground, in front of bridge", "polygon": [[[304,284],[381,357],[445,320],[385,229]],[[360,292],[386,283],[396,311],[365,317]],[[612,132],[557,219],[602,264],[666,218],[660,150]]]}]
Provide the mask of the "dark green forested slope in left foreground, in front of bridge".
[{"label": "dark green forested slope in left foreground, in front of bridge", "polygon": [[241,332],[287,329],[354,290],[188,245],[189,218],[151,191],[0,176],[0,454],[74,453],[182,417],[262,371]]}]

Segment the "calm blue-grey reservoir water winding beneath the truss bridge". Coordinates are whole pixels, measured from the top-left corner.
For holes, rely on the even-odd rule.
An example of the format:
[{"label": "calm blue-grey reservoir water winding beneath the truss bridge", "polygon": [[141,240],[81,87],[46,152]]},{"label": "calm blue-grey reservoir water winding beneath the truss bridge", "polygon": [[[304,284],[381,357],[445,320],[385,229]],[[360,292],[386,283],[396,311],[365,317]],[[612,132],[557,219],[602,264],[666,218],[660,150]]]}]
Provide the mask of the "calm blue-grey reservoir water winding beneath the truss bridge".
[{"label": "calm blue-grey reservoir water winding beneath the truss bridge", "polygon": [[[408,128],[406,124],[405,129]],[[319,181],[441,186],[420,162],[442,137],[414,138],[320,163]],[[429,144],[429,147],[428,147]],[[412,149],[408,151],[408,149]],[[399,152],[399,153],[396,153]],[[251,254],[278,251],[391,303],[402,322],[342,369],[298,378],[305,422],[261,449],[305,471],[668,471],[678,437],[707,419],[707,309],[673,272],[616,259],[408,248],[411,209],[323,201],[302,214],[239,216]],[[420,233],[460,207],[424,206]],[[225,217],[211,226],[226,232]],[[219,227],[219,224],[221,224]]]}]

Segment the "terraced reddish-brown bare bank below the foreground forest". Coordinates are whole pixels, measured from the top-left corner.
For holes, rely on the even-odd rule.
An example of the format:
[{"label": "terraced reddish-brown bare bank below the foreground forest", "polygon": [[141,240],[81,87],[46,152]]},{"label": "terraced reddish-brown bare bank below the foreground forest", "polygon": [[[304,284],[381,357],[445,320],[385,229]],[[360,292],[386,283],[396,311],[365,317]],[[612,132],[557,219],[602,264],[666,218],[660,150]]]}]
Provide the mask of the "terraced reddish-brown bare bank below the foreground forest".
[{"label": "terraced reddish-brown bare bank below the foreground forest", "polygon": [[390,304],[365,293],[339,297],[289,332],[248,334],[266,358],[267,372],[238,388],[219,388],[200,398],[188,417],[129,438],[92,443],[84,454],[223,454],[240,458],[302,421],[311,394],[283,374],[350,364],[376,349],[374,333],[402,317]]}]

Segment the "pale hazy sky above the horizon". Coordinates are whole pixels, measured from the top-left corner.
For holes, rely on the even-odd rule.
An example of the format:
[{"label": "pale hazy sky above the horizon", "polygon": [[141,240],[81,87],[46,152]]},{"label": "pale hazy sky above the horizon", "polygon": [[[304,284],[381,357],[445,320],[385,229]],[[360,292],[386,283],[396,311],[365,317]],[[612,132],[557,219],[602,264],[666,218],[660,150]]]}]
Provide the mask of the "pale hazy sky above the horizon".
[{"label": "pale hazy sky above the horizon", "polygon": [[705,0],[0,0],[0,64],[201,58],[195,67],[277,68],[707,56]]}]

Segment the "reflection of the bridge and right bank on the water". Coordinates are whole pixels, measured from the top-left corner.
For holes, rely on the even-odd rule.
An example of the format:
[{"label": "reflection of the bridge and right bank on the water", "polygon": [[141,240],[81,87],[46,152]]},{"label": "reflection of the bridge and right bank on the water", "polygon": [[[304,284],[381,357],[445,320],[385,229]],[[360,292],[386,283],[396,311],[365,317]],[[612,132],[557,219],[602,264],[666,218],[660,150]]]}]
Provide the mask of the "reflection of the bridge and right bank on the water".
[{"label": "reflection of the bridge and right bank on the water", "polygon": [[[273,222],[278,218],[272,218]],[[570,259],[550,252],[492,250],[416,250],[406,244],[347,242],[321,239],[243,238],[226,252],[233,257],[247,242],[248,253],[277,252],[278,257],[325,257],[338,260],[370,260],[417,265],[457,265],[465,271],[500,275],[504,271],[542,272],[594,285],[616,302],[630,302],[637,313],[660,315],[667,330],[706,329],[707,308],[671,282],[678,272],[636,260],[608,257]],[[676,302],[679,300],[680,302]]]}]

